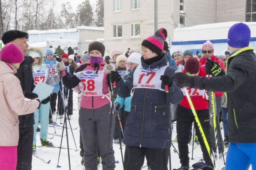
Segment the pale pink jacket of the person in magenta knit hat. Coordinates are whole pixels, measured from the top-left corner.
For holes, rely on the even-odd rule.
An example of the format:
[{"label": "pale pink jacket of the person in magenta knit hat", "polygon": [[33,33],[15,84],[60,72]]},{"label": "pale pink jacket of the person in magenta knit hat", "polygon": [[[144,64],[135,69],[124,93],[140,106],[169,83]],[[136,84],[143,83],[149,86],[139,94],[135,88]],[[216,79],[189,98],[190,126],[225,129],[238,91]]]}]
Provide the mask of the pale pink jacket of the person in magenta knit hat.
[{"label": "pale pink jacket of the person in magenta knit hat", "polygon": [[33,113],[38,108],[38,101],[24,99],[14,70],[0,61],[0,146],[17,146],[18,115]]}]

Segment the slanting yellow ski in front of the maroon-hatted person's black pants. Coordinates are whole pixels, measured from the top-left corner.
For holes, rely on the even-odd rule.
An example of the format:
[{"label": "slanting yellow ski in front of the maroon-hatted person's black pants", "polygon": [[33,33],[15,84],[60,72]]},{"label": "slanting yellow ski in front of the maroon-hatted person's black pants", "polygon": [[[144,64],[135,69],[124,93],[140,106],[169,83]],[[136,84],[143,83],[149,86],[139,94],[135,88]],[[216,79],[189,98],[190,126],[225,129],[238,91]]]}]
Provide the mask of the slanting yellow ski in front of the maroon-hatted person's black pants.
[{"label": "slanting yellow ski in front of the maroon-hatted person's black pants", "polygon": [[191,98],[190,98],[190,95],[188,94],[188,91],[187,91],[187,89],[186,89],[185,87],[183,88],[183,90],[185,91],[185,94],[186,94],[188,103],[190,104],[190,107],[191,107],[192,113],[193,113],[193,115],[194,115],[194,118],[195,118],[195,120],[196,120],[197,126],[198,126],[199,131],[200,131],[200,133],[201,133],[201,135],[202,135],[202,138],[203,138],[203,141],[204,141],[204,145],[206,146],[207,152],[208,152],[208,154],[209,154],[210,159],[212,160],[212,164],[213,164],[213,167],[214,167],[214,169],[215,169],[214,160],[212,159],[212,156],[211,156],[211,153],[210,153],[210,146],[209,146],[209,143],[208,143],[208,141],[207,141],[207,139],[206,139],[206,136],[204,135],[204,131],[203,131],[202,125],[201,125],[201,123],[200,123],[200,121],[199,121],[199,118],[198,118],[198,116],[197,116],[196,110],[194,109],[194,105],[193,105],[193,103],[192,103],[192,100],[191,100]]}]

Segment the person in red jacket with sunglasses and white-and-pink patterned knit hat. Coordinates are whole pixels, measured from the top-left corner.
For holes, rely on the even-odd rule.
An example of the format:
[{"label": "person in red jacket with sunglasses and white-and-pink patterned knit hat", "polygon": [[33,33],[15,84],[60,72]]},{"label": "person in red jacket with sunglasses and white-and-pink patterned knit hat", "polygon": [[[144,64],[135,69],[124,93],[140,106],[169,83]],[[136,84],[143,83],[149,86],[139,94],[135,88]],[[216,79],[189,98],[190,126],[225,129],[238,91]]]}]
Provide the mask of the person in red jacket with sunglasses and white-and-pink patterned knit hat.
[{"label": "person in red jacket with sunglasses and white-and-pink patterned knit hat", "polygon": [[[212,42],[210,42],[209,40],[207,40],[203,46],[202,46],[202,54],[203,57],[201,60],[199,60],[200,62],[200,66],[205,67],[205,63],[206,63],[206,58],[210,58],[213,62],[218,63],[220,65],[220,68],[222,70],[226,70],[225,68],[225,64],[223,63],[223,61],[221,61],[219,58],[215,57],[213,55],[214,53],[214,47]],[[223,92],[214,92],[215,94],[215,104],[216,104],[216,120],[219,120],[220,117],[220,111],[221,111],[221,103],[222,103],[222,95]],[[212,118],[212,117],[211,117]],[[214,129],[213,129],[213,122],[211,120],[211,126],[210,126],[210,139],[211,139],[211,147],[213,148],[213,152],[216,153],[216,145],[215,145],[215,136],[214,136]],[[219,121],[216,122],[216,127],[217,129],[217,143],[218,143],[218,149],[219,149],[219,153],[222,153],[222,151],[224,151],[224,147],[222,145],[223,143],[223,139],[222,139],[222,135],[219,135],[220,132],[220,125],[219,125]],[[217,156],[217,155],[215,155]],[[220,154],[220,157],[222,156],[222,154]]]}]

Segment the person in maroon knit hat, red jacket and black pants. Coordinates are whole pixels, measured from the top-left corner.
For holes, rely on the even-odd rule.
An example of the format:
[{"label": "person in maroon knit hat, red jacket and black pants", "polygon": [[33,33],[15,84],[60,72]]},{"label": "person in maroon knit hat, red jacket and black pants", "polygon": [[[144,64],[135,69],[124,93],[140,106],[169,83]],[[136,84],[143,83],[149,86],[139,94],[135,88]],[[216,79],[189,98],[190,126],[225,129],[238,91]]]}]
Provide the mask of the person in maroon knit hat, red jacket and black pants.
[{"label": "person in maroon knit hat, red jacket and black pants", "polygon": [[[206,76],[205,68],[199,65],[199,61],[194,58],[188,58],[185,63],[185,69],[182,72],[186,72],[191,76]],[[187,88],[188,93],[190,94],[191,100],[194,104],[194,108],[196,109],[196,113],[201,122],[202,128],[204,130],[204,134],[209,141],[209,128],[210,128],[210,120],[209,120],[209,107],[208,102],[206,100],[206,90],[199,89],[190,89]],[[178,138],[178,150],[179,150],[179,158],[181,167],[178,170],[188,170],[189,169],[189,157],[188,157],[188,142],[190,130],[192,127],[192,123],[194,122],[195,130],[197,134],[200,134],[197,123],[194,119],[190,104],[188,103],[187,97],[185,95],[184,90],[183,99],[181,103],[177,107],[177,138]],[[201,149],[203,152],[203,157],[206,163],[212,165],[211,159],[208,155],[206,146],[204,145],[203,138],[201,135],[198,135],[198,140],[201,145]]]}]

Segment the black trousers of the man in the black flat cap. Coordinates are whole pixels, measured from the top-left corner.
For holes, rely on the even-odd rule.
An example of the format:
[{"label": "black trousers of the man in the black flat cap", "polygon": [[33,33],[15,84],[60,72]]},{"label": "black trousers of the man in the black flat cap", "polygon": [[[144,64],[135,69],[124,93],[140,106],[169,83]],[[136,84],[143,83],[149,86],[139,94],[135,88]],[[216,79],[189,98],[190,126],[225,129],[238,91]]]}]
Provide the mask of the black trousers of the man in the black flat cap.
[{"label": "black trousers of the man in the black flat cap", "polygon": [[32,145],[34,128],[19,127],[19,141],[17,147],[17,170],[32,169]]}]

